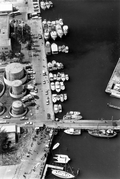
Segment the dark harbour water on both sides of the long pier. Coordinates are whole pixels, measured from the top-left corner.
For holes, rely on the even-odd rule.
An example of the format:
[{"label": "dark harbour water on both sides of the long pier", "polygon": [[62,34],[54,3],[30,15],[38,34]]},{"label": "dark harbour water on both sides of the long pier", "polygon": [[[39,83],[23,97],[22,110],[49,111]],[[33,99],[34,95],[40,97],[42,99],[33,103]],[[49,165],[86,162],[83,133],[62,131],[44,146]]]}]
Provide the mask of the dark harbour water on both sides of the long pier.
[{"label": "dark harbour water on both sides of the long pier", "polygon": [[[68,101],[63,103],[62,117],[67,111],[81,111],[84,119],[119,119],[120,111],[108,108],[107,102],[120,106],[120,100],[109,97],[105,88],[120,54],[120,2],[108,0],[53,0],[55,7],[42,11],[43,19],[63,18],[69,35],[57,44],[70,47],[69,54],[48,57],[65,65],[70,76],[66,82]],[[71,137],[60,132],[56,153],[66,153],[70,166],[80,168],[82,179],[120,178],[120,136],[98,139],[82,132]],[[52,153],[49,163],[52,162]],[[56,178],[48,173],[47,178]]]}]

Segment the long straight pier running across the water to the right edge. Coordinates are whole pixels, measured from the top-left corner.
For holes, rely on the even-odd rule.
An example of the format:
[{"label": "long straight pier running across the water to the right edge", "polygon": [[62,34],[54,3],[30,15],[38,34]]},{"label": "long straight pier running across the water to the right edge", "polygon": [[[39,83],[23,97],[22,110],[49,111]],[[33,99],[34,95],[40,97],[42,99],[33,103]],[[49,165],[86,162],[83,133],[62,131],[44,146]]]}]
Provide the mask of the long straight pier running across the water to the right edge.
[{"label": "long straight pier running across the water to the right edge", "polygon": [[114,129],[120,130],[120,119],[119,120],[60,120],[56,121],[38,121],[34,124],[35,126],[43,126],[56,129]]}]

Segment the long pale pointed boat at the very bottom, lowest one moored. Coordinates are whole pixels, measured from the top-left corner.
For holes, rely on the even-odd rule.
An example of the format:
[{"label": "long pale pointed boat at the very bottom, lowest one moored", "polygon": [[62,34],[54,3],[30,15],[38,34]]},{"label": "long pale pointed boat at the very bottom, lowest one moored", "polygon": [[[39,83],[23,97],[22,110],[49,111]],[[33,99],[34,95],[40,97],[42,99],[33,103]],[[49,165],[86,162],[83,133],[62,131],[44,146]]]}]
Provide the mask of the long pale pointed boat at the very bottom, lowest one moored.
[{"label": "long pale pointed boat at the very bottom, lowest one moored", "polygon": [[63,170],[52,169],[52,174],[59,178],[75,178],[75,175]]}]

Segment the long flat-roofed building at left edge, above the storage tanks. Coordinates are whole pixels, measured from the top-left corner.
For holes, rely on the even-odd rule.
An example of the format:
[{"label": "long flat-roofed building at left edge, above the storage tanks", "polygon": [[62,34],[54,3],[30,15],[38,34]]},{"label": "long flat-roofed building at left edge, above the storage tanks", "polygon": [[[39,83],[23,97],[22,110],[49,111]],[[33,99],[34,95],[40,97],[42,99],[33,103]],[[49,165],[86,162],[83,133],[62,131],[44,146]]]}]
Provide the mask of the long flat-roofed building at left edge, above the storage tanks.
[{"label": "long flat-roofed building at left edge, above the storage tanks", "polygon": [[0,15],[0,55],[11,50],[11,39],[9,38],[9,15]]}]

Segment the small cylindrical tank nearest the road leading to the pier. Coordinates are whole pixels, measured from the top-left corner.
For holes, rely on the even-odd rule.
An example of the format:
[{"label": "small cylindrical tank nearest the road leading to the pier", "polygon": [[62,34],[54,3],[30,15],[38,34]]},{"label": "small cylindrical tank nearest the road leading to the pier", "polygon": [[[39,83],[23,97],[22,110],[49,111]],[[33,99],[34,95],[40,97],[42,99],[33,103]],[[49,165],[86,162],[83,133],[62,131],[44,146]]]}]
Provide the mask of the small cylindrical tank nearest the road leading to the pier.
[{"label": "small cylindrical tank nearest the road leading to the pier", "polygon": [[12,103],[12,114],[20,115],[20,114],[24,113],[24,111],[25,111],[24,106],[21,101],[14,101]]}]

